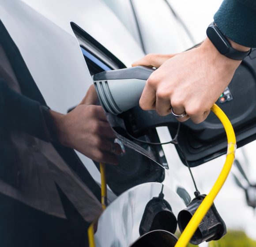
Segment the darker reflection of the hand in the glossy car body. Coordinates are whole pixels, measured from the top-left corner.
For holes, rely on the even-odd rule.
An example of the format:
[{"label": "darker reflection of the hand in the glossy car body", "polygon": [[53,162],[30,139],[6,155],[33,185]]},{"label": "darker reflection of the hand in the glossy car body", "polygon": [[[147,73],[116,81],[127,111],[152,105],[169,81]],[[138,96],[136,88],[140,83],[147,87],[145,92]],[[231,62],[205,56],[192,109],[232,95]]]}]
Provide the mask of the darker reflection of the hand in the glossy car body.
[{"label": "darker reflection of the hand in the glossy car body", "polygon": [[[101,106],[97,102],[97,94],[92,85],[83,101],[66,115],[51,112],[59,141],[97,162],[116,165],[121,148],[113,143],[115,134],[106,120]],[[111,140],[112,139],[112,140]],[[115,152],[111,153],[114,145]]]}]

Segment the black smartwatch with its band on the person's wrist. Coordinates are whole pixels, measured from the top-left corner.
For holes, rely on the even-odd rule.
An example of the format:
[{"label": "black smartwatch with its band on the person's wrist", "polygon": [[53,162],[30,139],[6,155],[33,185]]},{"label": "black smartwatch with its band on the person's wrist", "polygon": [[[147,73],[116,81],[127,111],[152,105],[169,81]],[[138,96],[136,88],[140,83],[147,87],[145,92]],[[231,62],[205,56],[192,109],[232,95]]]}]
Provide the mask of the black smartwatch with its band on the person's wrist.
[{"label": "black smartwatch with its band on the person's wrist", "polygon": [[234,49],[214,22],[207,27],[206,34],[218,52],[230,59],[243,60],[252,51],[252,49],[249,49],[248,52],[241,52]]}]

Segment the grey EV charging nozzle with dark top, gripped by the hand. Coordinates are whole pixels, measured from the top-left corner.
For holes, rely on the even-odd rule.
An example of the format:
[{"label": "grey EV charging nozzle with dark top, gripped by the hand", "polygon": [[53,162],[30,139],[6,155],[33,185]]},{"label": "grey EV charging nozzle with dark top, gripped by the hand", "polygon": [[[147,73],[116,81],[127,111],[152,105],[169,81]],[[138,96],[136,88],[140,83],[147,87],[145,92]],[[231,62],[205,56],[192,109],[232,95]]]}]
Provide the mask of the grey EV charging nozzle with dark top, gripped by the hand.
[{"label": "grey EV charging nozzle with dark top, gripped by the hand", "polygon": [[94,86],[105,112],[118,115],[136,105],[154,69],[137,66],[93,75]]}]

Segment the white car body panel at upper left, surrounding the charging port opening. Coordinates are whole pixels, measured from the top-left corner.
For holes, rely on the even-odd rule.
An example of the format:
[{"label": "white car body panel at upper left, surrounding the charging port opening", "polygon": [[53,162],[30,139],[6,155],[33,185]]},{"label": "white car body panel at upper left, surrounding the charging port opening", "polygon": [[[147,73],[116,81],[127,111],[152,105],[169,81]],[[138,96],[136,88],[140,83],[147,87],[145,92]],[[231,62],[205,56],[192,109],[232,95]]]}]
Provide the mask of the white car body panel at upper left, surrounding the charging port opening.
[{"label": "white car body panel at upper left, surrounding the charging port opening", "polygon": [[100,0],[1,0],[0,16],[47,104],[59,112],[77,104],[92,83],[70,22],[128,66],[143,56],[123,24]]}]

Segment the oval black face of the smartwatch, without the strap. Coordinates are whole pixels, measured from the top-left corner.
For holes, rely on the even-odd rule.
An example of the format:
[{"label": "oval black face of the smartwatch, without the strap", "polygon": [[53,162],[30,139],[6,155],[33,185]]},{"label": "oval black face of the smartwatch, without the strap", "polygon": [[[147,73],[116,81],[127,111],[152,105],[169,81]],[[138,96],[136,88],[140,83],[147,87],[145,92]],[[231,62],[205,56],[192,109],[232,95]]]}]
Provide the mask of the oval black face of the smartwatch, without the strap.
[{"label": "oval black face of the smartwatch, without the strap", "polygon": [[218,52],[223,55],[228,53],[230,44],[215,26],[208,26],[206,34]]}]

